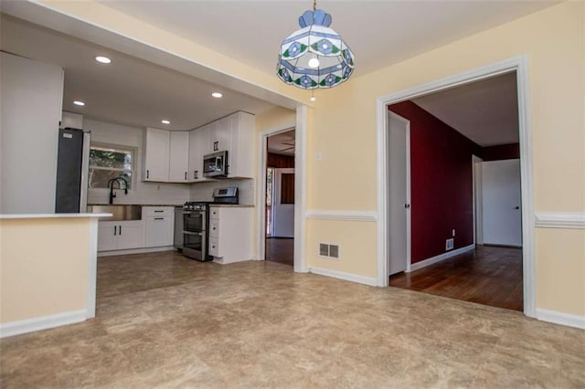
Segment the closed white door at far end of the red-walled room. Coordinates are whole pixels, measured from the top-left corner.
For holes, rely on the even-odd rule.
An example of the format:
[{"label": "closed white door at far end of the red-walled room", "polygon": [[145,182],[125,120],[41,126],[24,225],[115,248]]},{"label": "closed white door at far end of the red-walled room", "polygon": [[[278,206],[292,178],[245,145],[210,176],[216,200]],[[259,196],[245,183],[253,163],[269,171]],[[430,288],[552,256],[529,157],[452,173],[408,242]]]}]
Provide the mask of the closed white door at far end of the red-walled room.
[{"label": "closed white door at far end of the red-walled room", "polygon": [[482,163],[484,244],[522,246],[520,160]]}]

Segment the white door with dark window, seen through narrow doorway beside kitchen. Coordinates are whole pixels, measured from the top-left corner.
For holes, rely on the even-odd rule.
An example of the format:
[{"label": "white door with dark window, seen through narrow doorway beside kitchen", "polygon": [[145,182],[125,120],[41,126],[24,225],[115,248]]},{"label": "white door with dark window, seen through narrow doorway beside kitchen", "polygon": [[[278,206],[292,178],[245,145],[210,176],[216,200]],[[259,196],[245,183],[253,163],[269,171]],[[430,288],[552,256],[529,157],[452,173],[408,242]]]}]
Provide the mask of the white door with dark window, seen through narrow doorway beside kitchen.
[{"label": "white door with dark window, seen through narrow doorway beside kitchen", "polygon": [[294,169],[274,169],[273,180],[273,236],[294,237]]}]

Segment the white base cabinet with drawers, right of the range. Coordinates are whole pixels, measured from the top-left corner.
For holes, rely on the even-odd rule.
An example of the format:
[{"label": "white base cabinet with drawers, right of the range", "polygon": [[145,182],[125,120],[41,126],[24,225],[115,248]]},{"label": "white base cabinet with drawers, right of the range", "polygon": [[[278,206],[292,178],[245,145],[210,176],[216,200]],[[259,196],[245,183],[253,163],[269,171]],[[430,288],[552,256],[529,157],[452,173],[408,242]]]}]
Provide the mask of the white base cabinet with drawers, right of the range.
[{"label": "white base cabinet with drawers, right of the range", "polygon": [[228,264],[252,259],[253,207],[210,206],[209,255]]}]

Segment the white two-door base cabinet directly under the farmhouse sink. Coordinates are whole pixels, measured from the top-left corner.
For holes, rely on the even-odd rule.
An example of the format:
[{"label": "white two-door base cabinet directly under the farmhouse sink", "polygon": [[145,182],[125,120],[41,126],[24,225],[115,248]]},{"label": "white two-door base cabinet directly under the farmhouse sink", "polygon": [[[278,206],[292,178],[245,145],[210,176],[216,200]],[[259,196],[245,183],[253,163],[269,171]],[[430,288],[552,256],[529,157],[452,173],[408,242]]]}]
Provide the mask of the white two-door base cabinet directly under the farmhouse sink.
[{"label": "white two-door base cabinet directly under the farmhouse sink", "polygon": [[144,223],[142,220],[98,224],[98,251],[126,250],[144,247]]}]

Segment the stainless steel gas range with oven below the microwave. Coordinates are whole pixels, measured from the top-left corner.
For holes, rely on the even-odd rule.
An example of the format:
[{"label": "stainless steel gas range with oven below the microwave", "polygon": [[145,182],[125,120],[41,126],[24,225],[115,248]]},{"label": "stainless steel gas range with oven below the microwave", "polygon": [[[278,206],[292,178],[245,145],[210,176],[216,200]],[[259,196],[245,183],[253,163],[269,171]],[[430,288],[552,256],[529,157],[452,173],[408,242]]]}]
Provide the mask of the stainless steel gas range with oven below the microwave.
[{"label": "stainless steel gas range with oven below the microwave", "polygon": [[183,205],[183,255],[200,261],[213,260],[208,253],[209,205],[239,204],[238,188],[213,191],[213,202],[189,201]]}]

